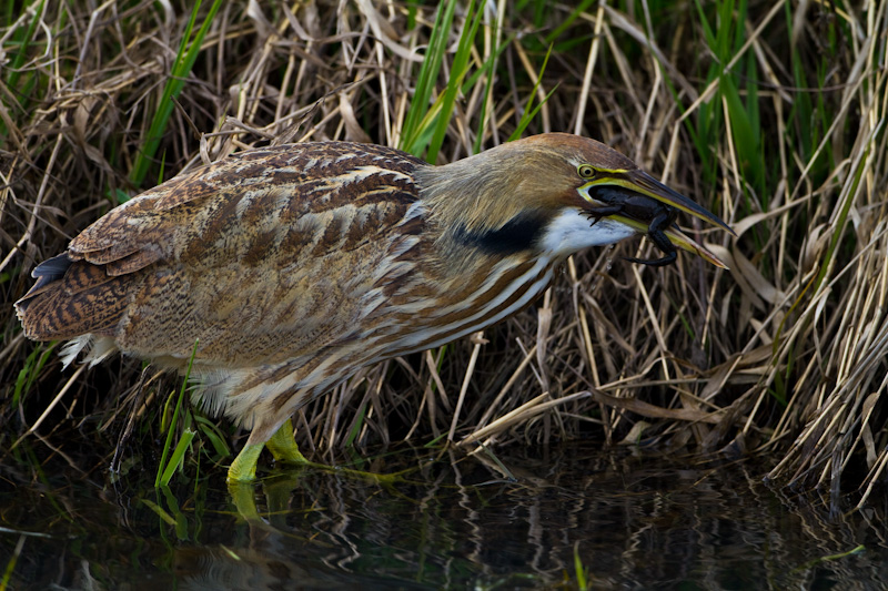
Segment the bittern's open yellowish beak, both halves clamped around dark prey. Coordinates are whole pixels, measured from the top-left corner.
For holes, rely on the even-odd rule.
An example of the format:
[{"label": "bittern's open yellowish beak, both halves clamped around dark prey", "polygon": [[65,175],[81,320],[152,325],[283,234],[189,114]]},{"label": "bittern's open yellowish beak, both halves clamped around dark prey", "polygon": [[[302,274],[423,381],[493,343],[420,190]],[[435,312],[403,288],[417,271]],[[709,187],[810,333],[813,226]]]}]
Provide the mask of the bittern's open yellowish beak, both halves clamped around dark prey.
[{"label": "bittern's open yellowish beak, both halves clamped around dark prey", "polygon": [[[668,186],[664,185],[649,174],[640,170],[632,170],[632,171],[620,171],[620,174],[601,179],[597,182],[591,183],[593,186],[615,186],[620,187],[623,190],[630,191],[633,193],[637,193],[639,195],[644,195],[646,197],[650,197],[656,200],[664,205],[669,207],[674,207],[676,210],[680,210],[685,213],[693,215],[694,217],[698,217],[705,222],[708,222],[713,225],[720,226],[722,228],[728,231],[731,235],[736,236],[737,234],[728,226],[725,222],[722,221],[720,217],[712,213],[710,211],[702,207],[700,205],[694,203],[683,194],[678,193],[677,191],[669,188]],[[619,222],[625,224],[632,228],[634,228],[639,234],[648,234],[649,233],[649,225],[648,223],[652,220],[635,220],[627,217],[623,214],[612,214],[607,215],[610,220],[615,222]],[[727,268],[727,265],[718,259],[712,252],[706,249],[706,247],[697,244],[694,240],[682,233],[678,230],[678,226],[673,224],[668,228],[664,228],[663,233],[678,248],[687,251],[689,253],[694,253],[709,263],[716,265],[717,267]]]}]

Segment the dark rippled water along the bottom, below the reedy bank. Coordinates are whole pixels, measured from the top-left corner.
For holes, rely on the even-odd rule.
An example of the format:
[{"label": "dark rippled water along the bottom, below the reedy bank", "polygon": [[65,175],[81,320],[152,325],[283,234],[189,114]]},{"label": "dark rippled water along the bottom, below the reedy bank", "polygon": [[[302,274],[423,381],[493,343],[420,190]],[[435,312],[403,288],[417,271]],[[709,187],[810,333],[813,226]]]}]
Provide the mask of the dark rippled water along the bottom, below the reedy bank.
[{"label": "dark rippled water along the bottom, below the reedy bank", "polygon": [[272,469],[233,496],[221,467],[155,490],[148,470],[110,482],[104,458],[53,455],[37,478],[4,466],[0,572],[11,564],[11,589],[575,589],[576,558],[594,589],[888,581],[884,508],[830,517],[751,465],[497,454],[515,481],[487,457],[406,450],[367,466],[413,469],[390,485]]}]

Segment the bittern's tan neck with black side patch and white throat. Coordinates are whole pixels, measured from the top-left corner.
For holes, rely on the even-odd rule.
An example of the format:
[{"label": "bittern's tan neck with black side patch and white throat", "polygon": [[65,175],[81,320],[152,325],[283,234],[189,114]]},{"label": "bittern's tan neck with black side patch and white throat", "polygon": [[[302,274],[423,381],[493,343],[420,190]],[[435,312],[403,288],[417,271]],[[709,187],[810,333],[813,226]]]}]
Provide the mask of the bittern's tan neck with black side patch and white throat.
[{"label": "bittern's tan neck with black side patch and white throat", "polygon": [[[446,164],[420,166],[414,176],[424,217],[438,252],[461,268],[503,257],[547,257],[557,264],[589,246],[613,244],[634,231],[610,220],[592,223],[564,206],[565,192],[553,175],[564,163],[545,150],[497,149]],[[553,179],[555,181],[553,181]]]}]

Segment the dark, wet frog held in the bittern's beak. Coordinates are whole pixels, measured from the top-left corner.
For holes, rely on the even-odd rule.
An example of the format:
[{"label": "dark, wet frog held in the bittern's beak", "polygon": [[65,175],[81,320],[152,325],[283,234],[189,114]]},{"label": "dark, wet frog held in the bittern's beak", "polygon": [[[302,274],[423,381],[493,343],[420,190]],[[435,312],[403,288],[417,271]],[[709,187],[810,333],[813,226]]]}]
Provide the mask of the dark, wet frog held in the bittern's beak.
[{"label": "dark, wet frog held in the bittern's beak", "polygon": [[626,261],[653,267],[662,267],[675,263],[678,255],[673,243],[664,234],[664,230],[675,223],[678,217],[678,210],[646,195],[627,193],[619,188],[606,186],[598,187],[595,191],[595,200],[608,205],[586,212],[589,218],[594,220],[592,225],[608,215],[624,215],[638,222],[645,222],[648,224],[647,237],[666,255],[652,261],[634,257],[626,257]]}]

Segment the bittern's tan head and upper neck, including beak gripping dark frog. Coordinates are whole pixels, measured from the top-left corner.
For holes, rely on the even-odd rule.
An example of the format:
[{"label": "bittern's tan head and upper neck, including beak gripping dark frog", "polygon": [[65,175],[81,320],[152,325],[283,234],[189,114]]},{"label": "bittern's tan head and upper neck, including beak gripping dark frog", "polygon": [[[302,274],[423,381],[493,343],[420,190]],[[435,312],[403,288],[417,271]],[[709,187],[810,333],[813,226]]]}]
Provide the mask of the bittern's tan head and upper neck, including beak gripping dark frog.
[{"label": "bittern's tan head and upper neck, including beak gripping dark frog", "polygon": [[619,152],[566,133],[534,135],[424,167],[416,179],[432,215],[452,237],[502,254],[536,249],[561,257],[640,233],[667,251],[657,263],[674,259],[678,247],[724,267],[675,220],[684,212],[734,233]]}]

